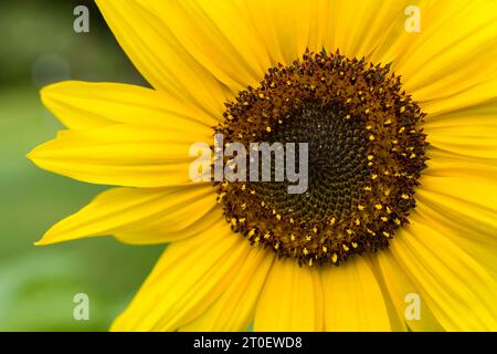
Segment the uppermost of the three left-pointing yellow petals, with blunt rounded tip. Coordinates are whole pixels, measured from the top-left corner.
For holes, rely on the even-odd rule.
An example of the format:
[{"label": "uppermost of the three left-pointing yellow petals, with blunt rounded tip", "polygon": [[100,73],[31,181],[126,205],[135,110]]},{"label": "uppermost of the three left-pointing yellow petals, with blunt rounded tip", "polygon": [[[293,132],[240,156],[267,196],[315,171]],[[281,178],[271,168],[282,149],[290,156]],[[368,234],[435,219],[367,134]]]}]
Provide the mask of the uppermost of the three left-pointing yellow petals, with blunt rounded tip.
[{"label": "uppermost of the three left-pointing yellow petals, with blunt rounded tip", "polygon": [[218,122],[167,93],[127,84],[66,81],[43,87],[41,98],[72,129],[119,123],[168,128],[184,121],[209,127]]}]

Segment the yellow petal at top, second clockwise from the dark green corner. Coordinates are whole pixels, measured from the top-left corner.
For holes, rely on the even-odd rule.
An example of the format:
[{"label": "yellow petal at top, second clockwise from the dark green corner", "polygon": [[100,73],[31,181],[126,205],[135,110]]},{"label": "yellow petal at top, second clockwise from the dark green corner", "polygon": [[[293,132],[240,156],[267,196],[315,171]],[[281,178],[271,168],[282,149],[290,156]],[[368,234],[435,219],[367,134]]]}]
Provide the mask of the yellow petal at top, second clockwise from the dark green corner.
[{"label": "yellow petal at top, second clockwise from the dark green corner", "polygon": [[254,85],[272,66],[245,9],[235,1],[138,1],[204,70],[233,93]]}]

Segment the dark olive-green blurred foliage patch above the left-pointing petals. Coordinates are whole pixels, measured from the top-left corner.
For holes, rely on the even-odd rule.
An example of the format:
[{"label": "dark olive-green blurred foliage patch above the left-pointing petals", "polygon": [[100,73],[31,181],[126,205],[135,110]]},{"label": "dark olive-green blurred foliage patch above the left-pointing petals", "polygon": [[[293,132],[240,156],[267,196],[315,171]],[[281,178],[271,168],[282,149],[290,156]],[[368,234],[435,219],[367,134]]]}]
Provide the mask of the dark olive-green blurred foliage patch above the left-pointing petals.
[{"label": "dark olive-green blurred foliage patch above the left-pointing petals", "polygon": [[[75,33],[74,8],[89,9],[89,33]],[[71,64],[72,79],[141,83],[91,0],[0,1],[0,83],[31,82],[32,65],[55,54]]]}]

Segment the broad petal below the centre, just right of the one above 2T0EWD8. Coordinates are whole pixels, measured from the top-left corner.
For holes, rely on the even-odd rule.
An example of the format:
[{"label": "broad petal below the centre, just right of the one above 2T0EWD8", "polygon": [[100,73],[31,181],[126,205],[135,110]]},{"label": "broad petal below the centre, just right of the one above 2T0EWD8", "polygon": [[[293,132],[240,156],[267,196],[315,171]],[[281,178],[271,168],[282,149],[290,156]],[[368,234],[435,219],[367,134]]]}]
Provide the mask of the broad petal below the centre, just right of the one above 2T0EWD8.
[{"label": "broad petal below the centre, just right of the one above 2T0EWD8", "polygon": [[361,257],[322,272],[326,331],[390,331],[380,285]]}]

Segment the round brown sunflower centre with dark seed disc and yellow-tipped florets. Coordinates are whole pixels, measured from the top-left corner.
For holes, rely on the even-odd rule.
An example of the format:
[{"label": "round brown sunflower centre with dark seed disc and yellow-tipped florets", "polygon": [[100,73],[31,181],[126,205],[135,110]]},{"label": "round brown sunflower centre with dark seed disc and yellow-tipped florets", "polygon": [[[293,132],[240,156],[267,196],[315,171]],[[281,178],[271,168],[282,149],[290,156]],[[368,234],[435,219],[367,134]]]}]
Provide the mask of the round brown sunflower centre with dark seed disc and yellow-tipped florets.
[{"label": "round brown sunflower centre with dark seed disc and yellow-tipped florets", "polygon": [[233,231],[308,266],[388,247],[415,207],[427,146],[424,114],[389,71],[306,52],[226,104],[224,143],[308,144],[303,194],[274,179],[214,183]]}]

